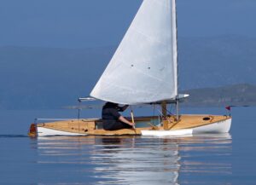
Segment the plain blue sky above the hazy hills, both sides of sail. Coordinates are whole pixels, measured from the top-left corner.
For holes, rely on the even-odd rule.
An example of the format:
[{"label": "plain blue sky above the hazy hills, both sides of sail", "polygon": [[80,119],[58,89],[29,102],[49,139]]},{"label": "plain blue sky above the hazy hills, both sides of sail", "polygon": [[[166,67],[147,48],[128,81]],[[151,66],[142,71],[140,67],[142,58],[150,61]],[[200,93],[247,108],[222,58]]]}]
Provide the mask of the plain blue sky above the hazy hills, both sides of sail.
[{"label": "plain blue sky above the hazy hills, both sides of sail", "polygon": [[[0,0],[0,46],[117,45],[142,0]],[[256,38],[256,0],[177,0],[178,37]]]}]

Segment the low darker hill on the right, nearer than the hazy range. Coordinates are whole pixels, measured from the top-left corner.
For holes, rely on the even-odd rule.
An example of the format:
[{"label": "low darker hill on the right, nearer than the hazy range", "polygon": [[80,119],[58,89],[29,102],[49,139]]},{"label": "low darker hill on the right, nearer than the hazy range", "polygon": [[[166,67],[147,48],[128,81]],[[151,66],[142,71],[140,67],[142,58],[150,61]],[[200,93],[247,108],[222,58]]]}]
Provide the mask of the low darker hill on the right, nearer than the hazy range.
[{"label": "low darker hill on the right, nearer than the hazy range", "polygon": [[218,88],[185,90],[188,107],[256,106],[256,85],[236,84]]}]

